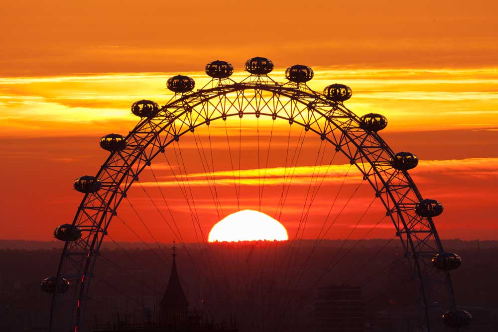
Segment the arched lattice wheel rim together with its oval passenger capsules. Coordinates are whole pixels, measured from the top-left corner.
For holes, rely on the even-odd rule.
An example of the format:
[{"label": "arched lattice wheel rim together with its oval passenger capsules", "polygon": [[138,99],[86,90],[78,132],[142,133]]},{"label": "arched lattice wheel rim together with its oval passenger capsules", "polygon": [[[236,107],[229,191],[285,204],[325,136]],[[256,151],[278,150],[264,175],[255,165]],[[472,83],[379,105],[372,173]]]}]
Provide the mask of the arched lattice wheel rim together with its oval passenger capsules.
[{"label": "arched lattice wheel rim together with its oval passenger capsules", "polygon": [[[53,294],[50,331],[87,331],[85,310],[102,243],[109,237],[111,221],[120,219],[118,208],[121,203],[128,201],[131,188],[138,185],[146,192],[146,186],[139,179],[151,169],[151,165],[158,160],[156,158],[166,155],[171,149],[175,149],[175,156],[178,157],[177,152],[181,153],[177,151],[180,148],[175,147],[178,142],[190,135],[196,139],[197,145],[200,137],[196,134],[206,128],[209,130],[211,124],[237,119],[236,122],[242,126],[249,117],[267,118],[271,119],[269,121],[287,123],[293,128],[298,125],[303,135],[313,136],[316,138],[314,142],[318,142],[316,144],[326,145],[332,149],[334,156],[338,154],[345,158],[352,168],[351,172],[356,169],[362,178],[361,182],[370,185],[374,200],[383,206],[385,216],[382,220],[392,221],[394,238],[407,262],[411,280],[417,285],[415,302],[419,309],[419,330],[416,331],[435,331],[431,328],[433,316],[439,317],[449,328],[459,329],[468,325],[471,316],[457,309],[449,272],[460,266],[461,259],[457,254],[444,251],[433,222],[433,218],[443,212],[443,206],[436,200],[424,198],[410,177],[408,171],[418,164],[416,155],[395,153],[378,134],[387,126],[387,119],[375,113],[358,116],[346,108],[343,103],[352,97],[352,90],[345,85],[329,85],[323,93],[310,89],[307,82],[313,79],[314,73],[308,66],[294,65],[287,68],[286,83],[274,81],[268,76],[273,70],[273,63],[267,58],[251,58],[246,62],[245,69],[249,75],[236,82],[231,79],[234,67],[230,63],[210,62],[205,72],[211,81],[199,90],[194,90],[195,82],[190,77],[171,77],[167,81],[167,88],[175,95],[166,105],[160,107],[149,100],[133,103],[131,112],[140,120],[129,134],[108,134],[101,138],[100,146],[110,152],[109,157],[95,176],[81,176],[75,180],[74,189],[84,194],[82,202],[74,221],[62,224],[54,231],[54,236],[64,241],[65,245],[57,274],[41,283],[42,290]],[[228,139],[228,129],[226,134]],[[258,146],[258,149],[262,148]],[[297,149],[298,146],[294,150]],[[229,152],[234,167],[230,146]],[[210,153],[212,163],[215,158],[212,150]],[[203,167],[206,165],[208,171],[216,171],[214,166],[209,168],[204,150],[199,150],[199,157],[201,161],[206,161]],[[179,164],[183,162],[183,156],[180,158],[179,161],[177,159]],[[285,164],[293,166],[287,160]],[[241,195],[240,168],[238,171],[239,184],[235,175],[233,182],[236,199]],[[157,181],[156,175],[152,175]],[[285,176],[290,177],[289,174]],[[182,179],[186,179],[187,183],[183,181],[178,184],[183,186],[182,193],[188,196],[189,191],[192,193],[192,184],[188,183],[188,178]],[[215,180],[208,178],[207,181],[213,184],[213,190],[216,191]],[[317,183],[320,183],[318,177],[314,188]],[[260,206],[261,191],[257,194]],[[212,195],[214,209],[221,210],[221,201],[215,197],[216,193],[212,192]],[[164,195],[162,197],[167,204],[167,199]],[[193,204],[195,200],[194,197],[186,197],[186,201]],[[280,211],[284,209],[283,203],[277,205]],[[189,208],[192,212],[190,205]],[[306,214],[310,213],[312,211],[308,208]],[[195,228],[199,216],[193,212],[192,215]],[[171,233],[181,240],[177,222],[173,218],[162,218]],[[198,229],[201,230],[200,225]],[[202,230],[201,238],[201,241],[206,241]],[[184,242],[182,245],[185,245]],[[316,283],[310,282],[310,285],[315,286]],[[446,306],[443,311],[442,304]]]}]

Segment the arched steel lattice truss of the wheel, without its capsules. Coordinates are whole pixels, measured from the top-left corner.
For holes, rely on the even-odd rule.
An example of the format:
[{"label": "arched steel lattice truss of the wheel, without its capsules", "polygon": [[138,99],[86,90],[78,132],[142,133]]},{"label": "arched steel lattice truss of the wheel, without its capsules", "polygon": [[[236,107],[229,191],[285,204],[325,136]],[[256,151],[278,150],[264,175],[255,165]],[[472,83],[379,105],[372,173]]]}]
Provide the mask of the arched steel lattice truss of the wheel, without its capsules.
[{"label": "arched steel lattice truss of the wheel, without its capsules", "polygon": [[68,279],[70,290],[55,292],[50,331],[84,331],[85,303],[101,244],[118,207],[138,176],[154,157],[198,126],[229,116],[270,116],[312,131],[333,144],[363,174],[392,220],[396,236],[419,286],[422,331],[430,331],[436,303],[455,308],[450,274],[433,267],[430,259],[444,252],[431,218],[422,218],[415,204],[422,199],[406,171],[391,167],[394,153],[374,132],[360,127],[361,119],[342,103],[327,100],[306,84],[280,84],[266,75],[250,75],[240,83],[214,79],[203,89],[177,94],[152,117],[142,118],[126,136],[123,151],[113,152],[97,173],[102,189],[86,194],[73,221],[83,230],[77,241],[66,242],[57,280]]}]

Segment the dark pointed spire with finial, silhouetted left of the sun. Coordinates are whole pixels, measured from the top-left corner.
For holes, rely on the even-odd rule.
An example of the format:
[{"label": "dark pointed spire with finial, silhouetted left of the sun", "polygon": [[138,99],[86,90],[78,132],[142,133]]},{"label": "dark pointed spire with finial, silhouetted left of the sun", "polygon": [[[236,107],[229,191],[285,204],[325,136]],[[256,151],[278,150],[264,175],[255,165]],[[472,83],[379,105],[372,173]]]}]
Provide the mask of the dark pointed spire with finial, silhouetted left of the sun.
[{"label": "dark pointed spire with finial, silhouetted left of the sun", "polygon": [[169,276],[168,286],[160,302],[161,316],[165,322],[180,323],[188,318],[188,301],[183,292],[178,271],[176,269],[176,246],[173,241],[173,264]]}]

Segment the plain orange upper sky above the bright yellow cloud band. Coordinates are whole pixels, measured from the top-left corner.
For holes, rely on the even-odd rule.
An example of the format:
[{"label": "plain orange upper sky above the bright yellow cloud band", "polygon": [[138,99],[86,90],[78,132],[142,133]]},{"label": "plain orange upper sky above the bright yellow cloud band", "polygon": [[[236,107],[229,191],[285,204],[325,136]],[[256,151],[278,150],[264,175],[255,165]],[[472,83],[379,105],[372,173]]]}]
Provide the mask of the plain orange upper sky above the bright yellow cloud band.
[{"label": "plain orange upper sky above the bright yellow cloud band", "polygon": [[495,67],[493,0],[2,1],[0,75],[280,66]]}]

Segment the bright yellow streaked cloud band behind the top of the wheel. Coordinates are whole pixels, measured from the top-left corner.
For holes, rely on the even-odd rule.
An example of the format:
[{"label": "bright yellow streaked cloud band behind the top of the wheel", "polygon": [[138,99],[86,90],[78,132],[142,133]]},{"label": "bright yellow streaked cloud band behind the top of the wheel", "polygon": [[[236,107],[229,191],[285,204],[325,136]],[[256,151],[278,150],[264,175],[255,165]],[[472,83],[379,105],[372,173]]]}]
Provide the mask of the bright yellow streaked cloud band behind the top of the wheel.
[{"label": "bright yellow streaked cloud band behind the top of the wheel", "polygon": [[[202,66],[200,66],[202,67]],[[130,105],[140,99],[166,104],[166,80],[176,73],[96,74],[0,78],[0,136],[101,135],[127,132],[138,118]],[[209,78],[186,73],[202,88]],[[233,79],[247,76],[236,68]],[[282,70],[270,74],[284,82]],[[386,130],[424,131],[498,126],[498,71],[488,69],[316,68],[309,86],[322,91],[331,83],[353,89],[346,107],[359,115],[381,113]],[[271,121],[270,121],[271,122]],[[268,122],[268,123],[270,123]],[[264,121],[261,123],[265,125]]]}]

